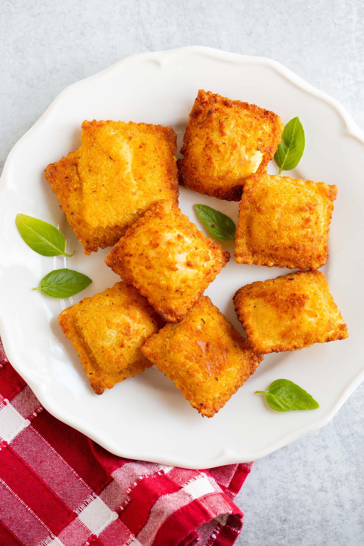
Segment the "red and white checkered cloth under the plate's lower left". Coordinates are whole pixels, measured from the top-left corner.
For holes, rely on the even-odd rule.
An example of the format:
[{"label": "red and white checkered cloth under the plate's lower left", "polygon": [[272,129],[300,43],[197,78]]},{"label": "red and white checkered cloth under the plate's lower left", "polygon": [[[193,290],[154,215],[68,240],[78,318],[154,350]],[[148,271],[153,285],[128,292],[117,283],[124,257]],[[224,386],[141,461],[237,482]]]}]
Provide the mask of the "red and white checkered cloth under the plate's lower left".
[{"label": "red and white checkered cloth under the plate's lower left", "polygon": [[186,470],[122,459],[43,409],[0,340],[1,546],[228,546],[251,463]]}]

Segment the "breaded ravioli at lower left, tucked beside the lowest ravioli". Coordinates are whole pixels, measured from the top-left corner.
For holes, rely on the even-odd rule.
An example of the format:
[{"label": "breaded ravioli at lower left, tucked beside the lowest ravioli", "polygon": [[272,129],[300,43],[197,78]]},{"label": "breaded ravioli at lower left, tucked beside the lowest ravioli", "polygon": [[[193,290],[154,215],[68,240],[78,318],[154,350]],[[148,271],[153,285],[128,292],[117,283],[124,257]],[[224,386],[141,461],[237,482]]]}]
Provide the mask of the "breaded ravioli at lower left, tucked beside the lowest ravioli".
[{"label": "breaded ravioli at lower left, tucked beside the lowest ravioli", "polygon": [[96,394],[151,366],[140,348],[164,325],[147,300],[123,281],[67,307],[58,322]]}]

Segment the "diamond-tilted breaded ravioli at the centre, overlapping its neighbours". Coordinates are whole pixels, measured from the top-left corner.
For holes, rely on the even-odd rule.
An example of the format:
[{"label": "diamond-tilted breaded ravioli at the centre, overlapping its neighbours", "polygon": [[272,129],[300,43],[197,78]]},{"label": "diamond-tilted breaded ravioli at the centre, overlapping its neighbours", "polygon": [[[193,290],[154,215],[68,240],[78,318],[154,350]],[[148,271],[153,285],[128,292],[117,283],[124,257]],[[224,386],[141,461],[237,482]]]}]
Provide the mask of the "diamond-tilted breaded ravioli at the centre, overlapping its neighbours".
[{"label": "diamond-tilted breaded ravioli at the centre, overlapping its neighbours", "polygon": [[105,262],[167,321],[179,321],[230,259],[170,201],[127,230]]}]

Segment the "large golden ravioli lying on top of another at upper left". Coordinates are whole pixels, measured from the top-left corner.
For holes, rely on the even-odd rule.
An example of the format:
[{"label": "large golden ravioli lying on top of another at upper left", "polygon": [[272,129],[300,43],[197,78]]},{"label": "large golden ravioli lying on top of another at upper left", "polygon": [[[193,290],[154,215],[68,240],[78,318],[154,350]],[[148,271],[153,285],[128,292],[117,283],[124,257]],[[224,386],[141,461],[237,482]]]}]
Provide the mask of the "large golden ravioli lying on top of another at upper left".
[{"label": "large golden ravioli lying on top of another at upper left", "polygon": [[159,199],[178,203],[171,127],[123,121],[84,121],[79,172],[86,221],[129,226]]}]

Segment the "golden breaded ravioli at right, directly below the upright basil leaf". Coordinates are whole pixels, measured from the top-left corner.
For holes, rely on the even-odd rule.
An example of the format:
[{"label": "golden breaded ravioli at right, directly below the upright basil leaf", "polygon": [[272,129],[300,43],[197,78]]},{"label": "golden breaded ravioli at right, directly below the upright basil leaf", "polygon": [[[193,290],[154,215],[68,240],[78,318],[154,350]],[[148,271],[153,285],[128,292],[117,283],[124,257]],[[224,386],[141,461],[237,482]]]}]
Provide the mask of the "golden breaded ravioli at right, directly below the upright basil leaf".
[{"label": "golden breaded ravioli at right, directly below the upright basil leaf", "polygon": [[239,204],[235,260],[242,264],[318,269],[337,187],[268,174],[250,176]]}]

